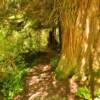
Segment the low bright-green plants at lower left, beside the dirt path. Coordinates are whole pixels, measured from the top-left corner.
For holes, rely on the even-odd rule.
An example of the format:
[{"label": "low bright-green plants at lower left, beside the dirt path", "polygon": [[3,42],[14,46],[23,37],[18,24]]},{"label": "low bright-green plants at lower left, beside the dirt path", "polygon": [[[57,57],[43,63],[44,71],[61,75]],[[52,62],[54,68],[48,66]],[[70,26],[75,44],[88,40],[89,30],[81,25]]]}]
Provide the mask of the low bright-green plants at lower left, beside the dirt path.
[{"label": "low bright-green plants at lower left, beside the dirt path", "polygon": [[3,80],[1,92],[5,100],[11,100],[17,93],[23,90],[22,77],[28,69],[18,70],[16,73],[8,72],[7,77]]}]

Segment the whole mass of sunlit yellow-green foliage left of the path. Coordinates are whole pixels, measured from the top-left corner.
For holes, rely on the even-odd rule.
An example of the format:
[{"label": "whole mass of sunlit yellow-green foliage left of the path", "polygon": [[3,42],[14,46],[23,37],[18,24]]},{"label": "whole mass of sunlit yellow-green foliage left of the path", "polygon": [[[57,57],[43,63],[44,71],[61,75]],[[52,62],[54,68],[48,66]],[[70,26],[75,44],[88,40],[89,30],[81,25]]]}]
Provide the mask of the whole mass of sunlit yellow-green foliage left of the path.
[{"label": "whole mass of sunlit yellow-green foliage left of the path", "polygon": [[[44,36],[41,38],[40,31],[37,35],[38,31],[32,29],[37,22],[26,19],[24,12],[11,14],[0,22],[0,93],[5,100],[11,100],[23,90],[22,77],[31,65],[23,54],[43,50],[47,40],[43,39]],[[30,60],[29,57],[27,59]],[[34,55],[32,57],[35,58]]]}]

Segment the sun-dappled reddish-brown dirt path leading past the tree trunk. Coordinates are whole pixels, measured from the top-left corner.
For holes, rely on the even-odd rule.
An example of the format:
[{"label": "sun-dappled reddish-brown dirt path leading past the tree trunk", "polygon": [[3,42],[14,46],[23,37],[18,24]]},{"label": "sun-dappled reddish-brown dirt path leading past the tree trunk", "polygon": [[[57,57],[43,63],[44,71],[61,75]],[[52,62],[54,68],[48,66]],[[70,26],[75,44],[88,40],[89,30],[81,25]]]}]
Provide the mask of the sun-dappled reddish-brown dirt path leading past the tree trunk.
[{"label": "sun-dappled reddish-brown dirt path leading past the tree trunk", "polygon": [[24,76],[24,90],[14,100],[66,100],[67,83],[55,79],[49,64],[51,54],[40,55],[39,62]]}]

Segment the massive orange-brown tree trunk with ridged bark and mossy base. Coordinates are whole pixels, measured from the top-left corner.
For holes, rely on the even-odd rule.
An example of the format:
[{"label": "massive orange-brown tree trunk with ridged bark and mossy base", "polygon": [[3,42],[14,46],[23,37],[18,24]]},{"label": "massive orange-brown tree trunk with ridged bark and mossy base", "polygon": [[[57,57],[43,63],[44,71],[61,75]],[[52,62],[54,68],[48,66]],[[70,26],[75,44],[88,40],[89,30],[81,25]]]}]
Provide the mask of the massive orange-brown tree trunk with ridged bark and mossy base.
[{"label": "massive orange-brown tree trunk with ridged bark and mossy base", "polygon": [[84,74],[85,66],[89,66],[89,52],[92,52],[94,37],[97,36],[97,30],[100,31],[100,26],[95,27],[100,21],[96,18],[100,12],[99,0],[65,1],[66,7],[60,15],[62,48],[56,68],[59,79],[71,79],[73,75]]}]

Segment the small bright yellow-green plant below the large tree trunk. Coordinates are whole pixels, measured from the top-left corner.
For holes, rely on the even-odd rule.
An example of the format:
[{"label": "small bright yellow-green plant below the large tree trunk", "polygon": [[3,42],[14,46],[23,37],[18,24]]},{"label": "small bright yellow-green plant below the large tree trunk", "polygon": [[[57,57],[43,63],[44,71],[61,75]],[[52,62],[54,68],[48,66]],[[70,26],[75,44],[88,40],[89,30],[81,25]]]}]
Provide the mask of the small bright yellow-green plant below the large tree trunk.
[{"label": "small bright yellow-green plant below the large tree trunk", "polygon": [[86,100],[90,100],[91,94],[90,94],[90,91],[86,87],[80,87],[78,88],[76,96],[86,99]]}]

